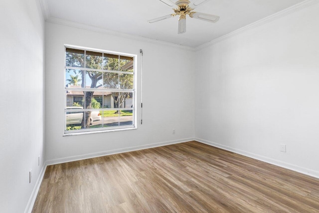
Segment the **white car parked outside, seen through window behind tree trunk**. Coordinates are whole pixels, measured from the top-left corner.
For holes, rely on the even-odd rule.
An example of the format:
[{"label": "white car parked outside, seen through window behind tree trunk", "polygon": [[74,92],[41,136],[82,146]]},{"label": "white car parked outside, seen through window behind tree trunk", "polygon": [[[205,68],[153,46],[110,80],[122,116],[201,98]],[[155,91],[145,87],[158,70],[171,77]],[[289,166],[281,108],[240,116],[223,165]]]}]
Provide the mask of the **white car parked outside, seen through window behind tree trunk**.
[{"label": "white car parked outside, seen through window behind tree trunk", "polygon": [[[83,107],[67,107],[66,109],[83,109]],[[81,124],[83,119],[83,112],[66,112],[66,125]],[[90,124],[93,121],[100,121],[102,117],[99,111],[92,111],[90,117]]]}]

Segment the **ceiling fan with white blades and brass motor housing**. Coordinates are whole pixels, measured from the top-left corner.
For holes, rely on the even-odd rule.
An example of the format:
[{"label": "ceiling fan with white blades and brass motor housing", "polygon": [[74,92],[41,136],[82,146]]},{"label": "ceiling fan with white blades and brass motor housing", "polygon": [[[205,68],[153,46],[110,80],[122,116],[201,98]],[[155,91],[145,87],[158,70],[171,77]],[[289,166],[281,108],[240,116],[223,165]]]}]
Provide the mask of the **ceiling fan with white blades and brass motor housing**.
[{"label": "ceiling fan with white blades and brass motor housing", "polygon": [[175,13],[165,15],[159,18],[155,18],[155,19],[149,20],[148,22],[154,23],[166,18],[174,17],[175,15],[179,15],[178,31],[177,31],[178,34],[182,34],[186,32],[186,15],[187,14],[191,18],[197,18],[197,19],[209,21],[212,23],[215,23],[219,19],[219,16],[217,15],[211,15],[211,14],[193,11],[193,9],[195,9],[197,6],[202,5],[203,3],[209,0],[193,0],[192,2],[190,2],[189,0],[177,0],[175,3],[173,3],[171,0],[160,0],[160,1],[170,7],[177,7],[177,8],[173,8]]}]

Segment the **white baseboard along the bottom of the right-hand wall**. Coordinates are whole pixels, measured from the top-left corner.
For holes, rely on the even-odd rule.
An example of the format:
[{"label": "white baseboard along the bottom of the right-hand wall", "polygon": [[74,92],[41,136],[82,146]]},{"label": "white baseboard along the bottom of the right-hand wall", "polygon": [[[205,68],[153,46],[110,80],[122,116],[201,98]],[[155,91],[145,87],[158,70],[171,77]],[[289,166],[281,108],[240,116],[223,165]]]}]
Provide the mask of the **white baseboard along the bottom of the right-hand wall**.
[{"label": "white baseboard along the bottom of the right-hand wall", "polygon": [[237,153],[237,154],[249,157],[249,158],[253,158],[253,159],[256,159],[256,160],[259,160],[259,161],[263,161],[263,162],[266,162],[266,163],[269,163],[269,164],[273,164],[273,165],[276,165],[276,166],[279,166],[279,167],[282,167],[282,168],[285,168],[285,169],[289,169],[289,170],[293,170],[295,172],[299,172],[299,173],[302,173],[302,174],[305,174],[305,175],[309,175],[309,176],[312,176],[314,178],[319,178],[319,171],[311,170],[311,169],[308,169],[308,168],[303,168],[303,167],[300,167],[300,166],[297,166],[297,165],[294,165],[294,164],[289,164],[289,163],[286,163],[286,162],[283,162],[283,161],[278,161],[276,159],[272,159],[272,158],[268,158],[268,157],[265,157],[265,156],[257,155],[257,154],[254,154],[254,153],[246,152],[244,150],[236,149],[236,148],[233,148],[233,147],[228,147],[228,146],[225,146],[225,145],[222,145],[222,144],[214,143],[214,142],[203,140],[203,139],[200,139],[200,138],[195,138],[194,140],[198,141],[200,143],[203,143],[203,144],[207,144],[207,145],[210,145],[210,146],[213,146],[213,147],[217,147],[217,148],[220,148],[220,149],[223,149],[223,150],[234,152],[234,153]]}]

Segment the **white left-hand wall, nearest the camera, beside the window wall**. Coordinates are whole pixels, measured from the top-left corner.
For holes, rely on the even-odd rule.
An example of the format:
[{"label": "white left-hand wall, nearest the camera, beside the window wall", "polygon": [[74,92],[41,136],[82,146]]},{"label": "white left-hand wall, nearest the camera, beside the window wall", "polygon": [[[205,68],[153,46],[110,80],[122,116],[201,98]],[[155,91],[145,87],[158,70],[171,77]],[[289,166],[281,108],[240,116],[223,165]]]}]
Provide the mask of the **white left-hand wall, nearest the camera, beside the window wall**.
[{"label": "white left-hand wall, nearest the camera, beside the window wall", "polygon": [[44,160],[44,18],[38,0],[0,4],[0,212],[22,213]]}]

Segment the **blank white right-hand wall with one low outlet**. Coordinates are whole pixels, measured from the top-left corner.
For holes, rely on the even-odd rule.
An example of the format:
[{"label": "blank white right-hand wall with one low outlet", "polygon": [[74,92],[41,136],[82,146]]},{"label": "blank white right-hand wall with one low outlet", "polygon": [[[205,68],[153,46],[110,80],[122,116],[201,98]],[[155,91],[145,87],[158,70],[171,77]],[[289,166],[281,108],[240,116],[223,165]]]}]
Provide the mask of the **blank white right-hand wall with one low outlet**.
[{"label": "blank white right-hand wall with one low outlet", "polygon": [[196,52],[195,137],[319,177],[318,11],[317,3]]}]

